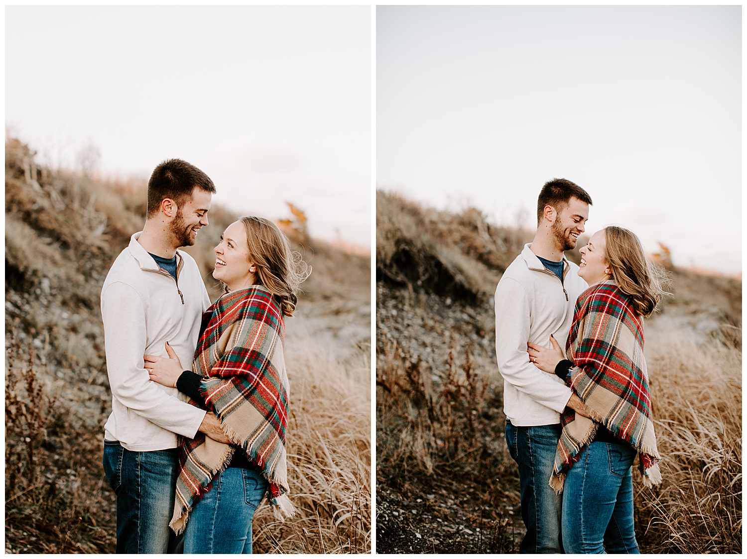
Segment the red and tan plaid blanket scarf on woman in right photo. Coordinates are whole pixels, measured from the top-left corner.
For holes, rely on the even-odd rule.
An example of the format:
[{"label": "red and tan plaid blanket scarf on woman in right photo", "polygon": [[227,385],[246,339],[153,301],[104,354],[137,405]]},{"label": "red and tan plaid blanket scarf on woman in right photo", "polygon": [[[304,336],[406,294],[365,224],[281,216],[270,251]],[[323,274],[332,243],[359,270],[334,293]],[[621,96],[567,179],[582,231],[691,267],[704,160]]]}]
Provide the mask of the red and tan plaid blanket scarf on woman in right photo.
[{"label": "red and tan plaid blanket scarf on woman in right photo", "polygon": [[565,408],[550,486],[562,492],[566,472],[593,440],[600,423],[639,452],[645,486],[661,483],[643,323],[614,281],[589,287],[579,296],[565,349],[574,363],[569,386],[593,421]]}]

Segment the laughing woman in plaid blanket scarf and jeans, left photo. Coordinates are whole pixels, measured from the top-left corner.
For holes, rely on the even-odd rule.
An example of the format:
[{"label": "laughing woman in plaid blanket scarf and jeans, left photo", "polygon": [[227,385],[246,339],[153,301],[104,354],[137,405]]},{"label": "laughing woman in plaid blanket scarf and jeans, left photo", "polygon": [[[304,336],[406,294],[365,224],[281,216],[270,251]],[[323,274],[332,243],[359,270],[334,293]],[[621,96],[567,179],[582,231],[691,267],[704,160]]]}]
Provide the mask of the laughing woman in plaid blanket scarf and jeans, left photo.
[{"label": "laughing woman in plaid blanket scarf and jeans, left photo", "polygon": [[215,413],[232,441],[182,438],[170,526],[185,531],[184,552],[251,553],[252,516],[265,494],[276,516],[294,513],[285,462],[284,319],[311,269],[260,217],[229,225],[214,250],[213,277],[225,293],[202,316],[194,372],[183,371],[168,345],[170,358],[145,360],[153,381]]}]

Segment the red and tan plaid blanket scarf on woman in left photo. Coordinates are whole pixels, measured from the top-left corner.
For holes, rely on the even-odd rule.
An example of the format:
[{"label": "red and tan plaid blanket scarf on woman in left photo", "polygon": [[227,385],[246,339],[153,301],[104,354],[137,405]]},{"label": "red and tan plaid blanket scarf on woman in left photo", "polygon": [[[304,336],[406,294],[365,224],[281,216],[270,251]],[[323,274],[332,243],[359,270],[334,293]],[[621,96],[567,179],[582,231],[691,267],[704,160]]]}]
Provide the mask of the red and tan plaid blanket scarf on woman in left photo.
[{"label": "red and tan plaid blanket scarf on woman in left photo", "polygon": [[[287,495],[288,376],[283,360],[282,310],[269,291],[255,285],[220,296],[203,319],[208,316],[192,363],[194,372],[203,377],[200,393],[205,406],[270,482],[267,498],[276,516],[291,516],[295,510]],[[177,534],[184,530],[190,510],[211,489],[215,475],[226,468],[235,450],[235,446],[218,443],[200,432],[194,439],[182,437],[170,522]]]}]

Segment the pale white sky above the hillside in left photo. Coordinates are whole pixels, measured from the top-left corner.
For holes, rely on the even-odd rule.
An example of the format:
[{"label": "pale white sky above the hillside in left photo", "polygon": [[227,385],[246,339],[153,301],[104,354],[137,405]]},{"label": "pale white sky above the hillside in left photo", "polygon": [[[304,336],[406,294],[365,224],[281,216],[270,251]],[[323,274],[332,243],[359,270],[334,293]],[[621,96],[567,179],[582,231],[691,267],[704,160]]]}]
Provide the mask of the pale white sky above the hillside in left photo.
[{"label": "pale white sky above the hillside in left photo", "polygon": [[368,6],[9,6],[5,123],[43,162],[179,157],[215,204],[371,246]]}]

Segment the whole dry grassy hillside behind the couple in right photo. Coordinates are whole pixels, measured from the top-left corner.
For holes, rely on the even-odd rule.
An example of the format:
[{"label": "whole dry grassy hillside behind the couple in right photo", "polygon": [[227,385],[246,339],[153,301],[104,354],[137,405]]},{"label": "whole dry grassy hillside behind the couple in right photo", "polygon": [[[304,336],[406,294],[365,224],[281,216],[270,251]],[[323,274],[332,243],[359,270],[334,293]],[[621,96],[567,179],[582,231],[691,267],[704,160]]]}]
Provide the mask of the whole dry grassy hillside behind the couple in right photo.
[{"label": "whole dry grassy hillside behind the couple in right photo", "polygon": [[[532,234],[379,192],[376,236],[376,550],[518,552],[492,295]],[[741,552],[741,281],[663,256],[673,296],[645,352],[664,481],[636,484],[636,534]]]}]

